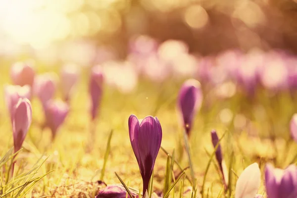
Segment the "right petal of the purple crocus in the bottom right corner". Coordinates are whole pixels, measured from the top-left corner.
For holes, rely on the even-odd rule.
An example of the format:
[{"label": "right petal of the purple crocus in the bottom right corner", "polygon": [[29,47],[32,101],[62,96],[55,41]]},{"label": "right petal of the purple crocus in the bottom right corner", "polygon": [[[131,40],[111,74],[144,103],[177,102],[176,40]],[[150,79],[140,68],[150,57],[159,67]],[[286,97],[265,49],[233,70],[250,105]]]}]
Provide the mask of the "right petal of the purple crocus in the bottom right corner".
[{"label": "right petal of the purple crocus in the bottom right corner", "polygon": [[297,197],[297,168],[290,165],[285,171],[279,186],[279,198]]}]

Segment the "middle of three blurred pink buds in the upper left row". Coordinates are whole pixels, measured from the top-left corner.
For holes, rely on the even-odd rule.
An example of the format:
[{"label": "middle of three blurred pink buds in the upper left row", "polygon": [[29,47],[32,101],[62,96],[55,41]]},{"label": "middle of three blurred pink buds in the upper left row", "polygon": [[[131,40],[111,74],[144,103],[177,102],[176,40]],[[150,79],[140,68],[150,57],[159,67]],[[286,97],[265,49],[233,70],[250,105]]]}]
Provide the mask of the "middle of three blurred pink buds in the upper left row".
[{"label": "middle of three blurred pink buds in the upper left row", "polygon": [[57,75],[45,73],[38,75],[34,81],[34,93],[41,100],[43,106],[53,98],[56,90]]}]

